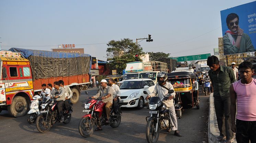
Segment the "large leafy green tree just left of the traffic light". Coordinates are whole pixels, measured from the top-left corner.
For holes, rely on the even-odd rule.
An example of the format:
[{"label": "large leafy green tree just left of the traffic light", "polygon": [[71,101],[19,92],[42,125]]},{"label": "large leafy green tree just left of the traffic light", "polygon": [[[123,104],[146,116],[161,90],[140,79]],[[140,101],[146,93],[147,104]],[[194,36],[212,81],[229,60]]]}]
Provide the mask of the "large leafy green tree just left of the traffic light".
[{"label": "large leafy green tree just left of the traffic light", "polygon": [[142,47],[136,43],[132,42],[129,38],[121,39],[120,41],[111,40],[108,42],[107,46],[107,57],[108,61],[110,61],[110,67],[112,69],[116,69],[117,73],[122,73],[122,71],[126,68],[126,63],[135,61],[135,55],[139,55],[139,60],[141,60],[140,56],[145,53],[142,51]]}]

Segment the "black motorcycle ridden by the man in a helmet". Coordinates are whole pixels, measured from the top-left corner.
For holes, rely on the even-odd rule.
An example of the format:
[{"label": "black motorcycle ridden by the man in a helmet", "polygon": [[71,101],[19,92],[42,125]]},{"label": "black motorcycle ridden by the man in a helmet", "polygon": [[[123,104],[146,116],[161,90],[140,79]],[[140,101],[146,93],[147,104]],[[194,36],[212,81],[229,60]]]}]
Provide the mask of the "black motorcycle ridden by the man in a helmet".
[{"label": "black motorcycle ridden by the man in a helmet", "polygon": [[[170,95],[173,92],[174,90],[171,89],[167,94]],[[148,95],[147,91],[143,91],[143,93]],[[162,99],[159,97],[152,97],[149,100],[148,108],[151,116],[146,117],[146,138],[148,143],[156,143],[158,141],[160,130],[167,130],[168,132],[172,131],[171,127],[173,127],[173,125],[171,124],[170,112],[162,102],[169,98],[169,96],[165,96]]]}]

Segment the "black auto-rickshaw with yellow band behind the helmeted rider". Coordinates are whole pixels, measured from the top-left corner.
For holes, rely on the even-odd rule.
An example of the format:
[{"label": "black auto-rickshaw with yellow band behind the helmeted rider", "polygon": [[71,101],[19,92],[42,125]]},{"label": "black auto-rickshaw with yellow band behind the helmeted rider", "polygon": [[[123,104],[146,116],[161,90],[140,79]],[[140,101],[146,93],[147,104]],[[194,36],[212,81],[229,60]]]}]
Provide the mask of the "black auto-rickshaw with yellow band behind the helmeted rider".
[{"label": "black auto-rickshaw with yellow band behind the helmeted rider", "polygon": [[182,117],[183,109],[200,108],[199,97],[195,92],[196,74],[192,72],[172,72],[167,74],[167,81],[173,85],[176,93],[174,106],[177,117]]}]

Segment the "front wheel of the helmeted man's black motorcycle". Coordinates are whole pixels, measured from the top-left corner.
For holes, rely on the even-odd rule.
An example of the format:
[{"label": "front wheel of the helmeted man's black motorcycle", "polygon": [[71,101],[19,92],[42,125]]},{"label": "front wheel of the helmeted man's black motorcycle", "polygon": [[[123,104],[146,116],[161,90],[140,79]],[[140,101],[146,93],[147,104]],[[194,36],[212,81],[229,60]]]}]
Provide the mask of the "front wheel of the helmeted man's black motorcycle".
[{"label": "front wheel of the helmeted man's black motorcycle", "polygon": [[157,131],[155,132],[155,126],[156,126],[156,121],[154,120],[149,120],[147,123],[147,129],[146,129],[146,138],[148,143],[156,143],[159,138],[159,126]]}]

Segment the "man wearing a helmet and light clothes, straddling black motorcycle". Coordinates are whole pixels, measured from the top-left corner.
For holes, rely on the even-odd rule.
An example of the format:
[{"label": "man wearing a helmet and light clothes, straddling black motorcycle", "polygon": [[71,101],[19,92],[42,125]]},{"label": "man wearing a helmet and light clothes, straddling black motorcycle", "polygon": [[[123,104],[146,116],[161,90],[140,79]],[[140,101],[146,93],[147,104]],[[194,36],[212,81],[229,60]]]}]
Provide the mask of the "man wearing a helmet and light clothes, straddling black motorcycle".
[{"label": "man wearing a helmet and light clothes, straddling black motorcycle", "polygon": [[[156,84],[154,91],[146,97],[146,100],[156,95],[163,98],[164,95],[166,95],[169,90],[171,89],[174,90],[172,84],[166,82],[167,74],[165,72],[158,73],[156,77],[157,77],[158,84]],[[174,135],[178,137],[182,137],[181,133],[179,133],[178,131],[178,123],[177,123],[175,108],[173,104],[173,98],[175,98],[175,92],[173,92],[171,96],[169,96],[168,100],[164,100],[163,103],[169,110],[170,117],[171,117],[171,124],[173,125],[172,130],[175,130]]]}]

